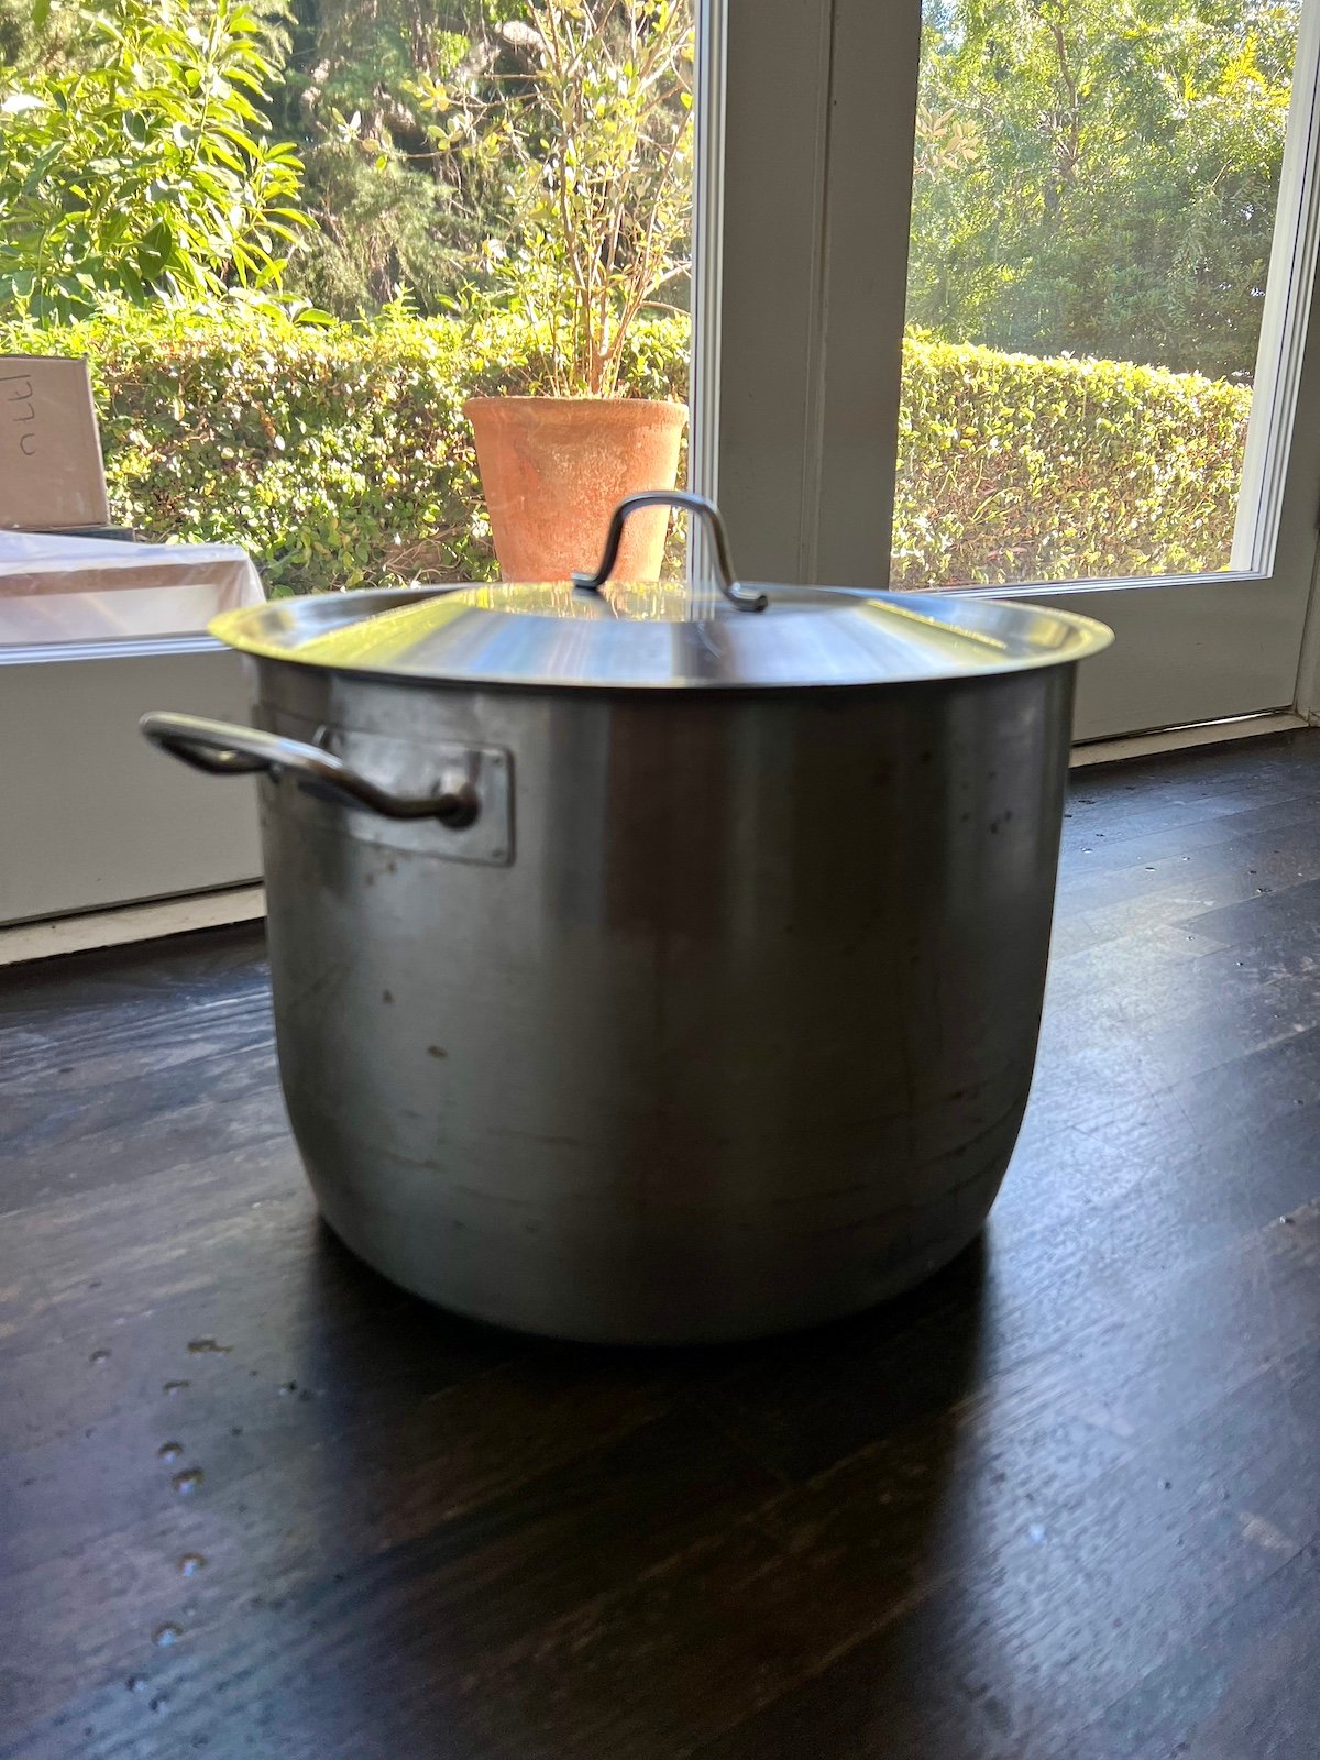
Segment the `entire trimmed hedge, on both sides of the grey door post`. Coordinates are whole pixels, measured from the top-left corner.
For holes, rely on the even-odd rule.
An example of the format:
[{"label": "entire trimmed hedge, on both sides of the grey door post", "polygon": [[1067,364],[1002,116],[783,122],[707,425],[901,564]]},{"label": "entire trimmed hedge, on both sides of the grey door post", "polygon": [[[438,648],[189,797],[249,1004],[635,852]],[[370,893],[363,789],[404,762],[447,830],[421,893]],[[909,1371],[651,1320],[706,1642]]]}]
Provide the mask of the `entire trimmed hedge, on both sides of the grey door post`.
[{"label": "entire trimmed hedge, on both sides of the grey door post", "polygon": [[[495,574],[477,391],[537,391],[509,320],[329,329],[216,313],[0,324],[0,352],[84,354],[114,517],[246,546],[273,593]],[[683,396],[686,322],[635,327],[634,396]],[[894,581],[1079,579],[1228,561],[1250,389],[1114,361],[910,336]]]}]

